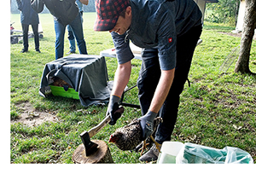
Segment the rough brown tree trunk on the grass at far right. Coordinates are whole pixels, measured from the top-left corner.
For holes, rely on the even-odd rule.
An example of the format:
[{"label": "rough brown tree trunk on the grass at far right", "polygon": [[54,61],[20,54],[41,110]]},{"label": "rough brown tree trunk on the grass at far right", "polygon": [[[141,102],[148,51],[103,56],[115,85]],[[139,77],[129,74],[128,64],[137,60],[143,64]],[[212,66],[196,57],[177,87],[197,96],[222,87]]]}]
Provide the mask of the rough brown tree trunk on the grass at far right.
[{"label": "rough brown tree trunk on the grass at far right", "polygon": [[253,42],[254,29],[256,26],[256,3],[255,0],[246,0],[243,30],[241,35],[241,49],[236,62],[235,72],[251,73],[249,69],[250,51]]}]

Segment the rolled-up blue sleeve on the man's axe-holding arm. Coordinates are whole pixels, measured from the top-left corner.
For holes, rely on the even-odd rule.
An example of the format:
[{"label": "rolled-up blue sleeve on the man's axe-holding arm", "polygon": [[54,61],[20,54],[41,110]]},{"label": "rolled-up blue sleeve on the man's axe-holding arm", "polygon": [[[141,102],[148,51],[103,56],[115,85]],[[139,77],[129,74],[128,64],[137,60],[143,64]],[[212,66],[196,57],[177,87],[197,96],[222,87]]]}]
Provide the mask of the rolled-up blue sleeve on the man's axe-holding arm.
[{"label": "rolled-up blue sleeve on the man's axe-holding arm", "polygon": [[116,32],[111,32],[113,44],[116,50],[116,55],[119,64],[124,64],[134,58],[129,46],[129,40],[125,42],[125,34],[119,35]]}]

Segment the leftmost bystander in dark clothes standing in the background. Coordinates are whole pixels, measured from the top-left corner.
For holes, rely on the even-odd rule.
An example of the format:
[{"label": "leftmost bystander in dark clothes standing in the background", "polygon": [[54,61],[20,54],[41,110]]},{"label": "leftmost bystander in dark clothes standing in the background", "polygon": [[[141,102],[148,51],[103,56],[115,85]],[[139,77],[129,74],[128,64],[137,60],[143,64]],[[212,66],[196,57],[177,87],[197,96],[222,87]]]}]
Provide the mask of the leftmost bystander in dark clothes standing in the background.
[{"label": "leftmost bystander in dark clothes standing in the background", "polygon": [[38,35],[38,24],[39,18],[38,14],[32,9],[30,0],[16,0],[18,9],[20,10],[20,23],[22,26],[23,34],[23,49],[20,53],[25,53],[28,51],[28,28],[29,25],[32,26],[32,31],[34,34],[35,49],[40,52],[39,49],[39,35]]}]

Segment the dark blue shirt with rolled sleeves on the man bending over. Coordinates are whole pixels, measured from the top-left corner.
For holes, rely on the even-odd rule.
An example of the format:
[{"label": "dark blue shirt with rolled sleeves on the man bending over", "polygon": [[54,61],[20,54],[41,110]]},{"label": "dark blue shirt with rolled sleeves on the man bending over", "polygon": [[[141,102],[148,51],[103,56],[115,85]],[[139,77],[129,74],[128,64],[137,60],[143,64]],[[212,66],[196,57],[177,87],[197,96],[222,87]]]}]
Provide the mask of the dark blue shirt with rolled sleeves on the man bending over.
[{"label": "dark blue shirt with rolled sleeves on the man bending over", "polygon": [[201,10],[193,0],[131,0],[131,26],[119,35],[111,32],[119,64],[131,61],[131,42],[159,51],[160,68],[176,66],[177,36],[201,25]]}]

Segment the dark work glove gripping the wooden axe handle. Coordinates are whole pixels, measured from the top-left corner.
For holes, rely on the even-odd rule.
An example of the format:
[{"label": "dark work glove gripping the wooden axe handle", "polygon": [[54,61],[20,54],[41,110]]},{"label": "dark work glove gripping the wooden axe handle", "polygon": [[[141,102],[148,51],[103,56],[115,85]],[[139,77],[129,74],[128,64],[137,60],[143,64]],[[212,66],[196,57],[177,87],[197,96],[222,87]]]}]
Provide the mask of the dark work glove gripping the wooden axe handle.
[{"label": "dark work glove gripping the wooden axe handle", "polygon": [[110,96],[108,111],[106,114],[106,116],[110,114],[111,121],[109,122],[109,125],[115,125],[116,120],[121,117],[121,113],[116,113],[116,111],[119,109],[119,99],[119,96]]}]

